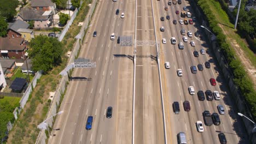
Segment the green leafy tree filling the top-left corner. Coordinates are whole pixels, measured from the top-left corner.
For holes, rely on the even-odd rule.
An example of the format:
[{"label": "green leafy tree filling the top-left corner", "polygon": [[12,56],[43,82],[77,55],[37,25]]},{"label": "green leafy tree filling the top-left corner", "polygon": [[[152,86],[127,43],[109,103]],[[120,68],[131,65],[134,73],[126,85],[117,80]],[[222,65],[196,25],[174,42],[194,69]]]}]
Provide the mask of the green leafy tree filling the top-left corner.
[{"label": "green leafy tree filling the top-left corner", "polygon": [[8,22],[12,21],[17,14],[16,8],[18,5],[18,0],[1,0],[0,16],[4,17]]}]

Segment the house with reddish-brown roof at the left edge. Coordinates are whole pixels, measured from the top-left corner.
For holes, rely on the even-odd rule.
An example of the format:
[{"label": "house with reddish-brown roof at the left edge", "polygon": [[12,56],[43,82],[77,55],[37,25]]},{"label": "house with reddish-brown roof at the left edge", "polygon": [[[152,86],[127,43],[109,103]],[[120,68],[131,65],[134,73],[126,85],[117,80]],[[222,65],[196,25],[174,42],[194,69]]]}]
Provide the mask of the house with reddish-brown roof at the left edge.
[{"label": "house with reddish-brown roof at the left edge", "polygon": [[24,38],[0,38],[0,56],[9,58],[24,58],[27,47]]}]

